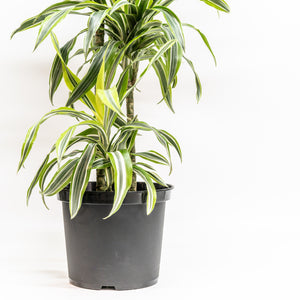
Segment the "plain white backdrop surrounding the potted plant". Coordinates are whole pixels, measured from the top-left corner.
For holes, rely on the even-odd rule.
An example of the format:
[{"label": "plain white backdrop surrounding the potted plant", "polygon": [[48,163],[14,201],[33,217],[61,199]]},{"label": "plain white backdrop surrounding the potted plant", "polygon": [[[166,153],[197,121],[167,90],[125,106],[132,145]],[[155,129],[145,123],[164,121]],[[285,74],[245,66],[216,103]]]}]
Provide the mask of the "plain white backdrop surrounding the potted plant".
[{"label": "plain white backdrop surrounding the potted plant", "polygon": [[[37,31],[9,35],[53,1],[5,1],[1,41],[0,294],[2,299],[299,299],[300,103],[299,1],[229,1],[230,15],[197,0],[174,10],[206,33],[218,59],[186,30],[204,95],[195,102],[194,78],[184,65],[174,92],[176,114],[162,104],[153,74],[139,85],[139,118],[180,141],[167,179],[168,203],[159,283],[129,291],[89,291],[68,284],[60,203],[46,211],[38,192],[25,207],[26,188],[47,149],[70,123],[57,118],[40,132],[26,169],[16,167],[26,130],[51,109],[48,73],[54,50],[32,53]],[[62,40],[78,28],[69,18]],[[72,23],[73,22],[73,23]],[[71,25],[70,25],[71,23]],[[69,24],[69,25],[67,25]],[[55,99],[63,105],[66,91]],[[138,144],[149,149],[152,140]],[[166,175],[166,171],[162,171]]]}]

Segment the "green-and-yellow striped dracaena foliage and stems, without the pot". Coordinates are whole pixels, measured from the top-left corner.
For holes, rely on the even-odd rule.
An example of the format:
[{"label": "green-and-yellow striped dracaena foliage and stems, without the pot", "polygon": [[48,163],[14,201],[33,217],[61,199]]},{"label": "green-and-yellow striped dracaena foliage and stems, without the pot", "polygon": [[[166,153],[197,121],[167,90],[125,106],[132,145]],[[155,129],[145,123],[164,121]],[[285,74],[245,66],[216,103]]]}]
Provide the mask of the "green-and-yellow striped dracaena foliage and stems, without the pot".
[{"label": "green-and-yellow striped dracaena foliage and stems, without the pot", "polygon": [[[219,11],[229,11],[223,0],[202,1]],[[183,26],[196,30],[213,55],[205,35],[191,24],[182,24],[169,7],[172,2],[63,1],[27,19],[14,31],[13,35],[39,26],[34,49],[47,37],[51,38],[56,51],[49,77],[51,103],[62,80],[70,90],[65,107],[50,111],[28,130],[19,169],[24,165],[42,123],[57,115],[66,115],[75,121],[46,155],[30,184],[27,202],[36,185],[39,185],[45,203],[45,196],[52,196],[70,184],[70,214],[74,218],[80,209],[91,170],[95,169],[97,190],[115,192],[108,217],[118,211],[128,190],[136,190],[136,175],[146,183],[147,214],[151,213],[156,201],[154,183],[166,184],[149,163],[169,166],[172,171],[170,149],[174,148],[180,158],[181,150],[170,133],[137,119],[134,90],[153,68],[161,86],[162,101],[174,111],[172,89],[176,86],[182,60],[185,60],[194,72],[199,101],[201,83],[192,61],[185,56]],[[60,46],[54,29],[69,14],[87,18],[87,25]],[[82,39],[79,43],[81,36],[83,43]],[[68,63],[77,56],[81,56],[83,62],[74,73]],[[140,71],[141,62],[146,65]],[[84,66],[88,68],[81,76]],[[77,101],[85,105],[86,111],[75,109]],[[125,114],[122,106],[126,106]],[[153,150],[136,152],[135,139],[142,131],[153,132],[165,149],[164,155]],[[82,148],[77,143],[85,146]]]}]

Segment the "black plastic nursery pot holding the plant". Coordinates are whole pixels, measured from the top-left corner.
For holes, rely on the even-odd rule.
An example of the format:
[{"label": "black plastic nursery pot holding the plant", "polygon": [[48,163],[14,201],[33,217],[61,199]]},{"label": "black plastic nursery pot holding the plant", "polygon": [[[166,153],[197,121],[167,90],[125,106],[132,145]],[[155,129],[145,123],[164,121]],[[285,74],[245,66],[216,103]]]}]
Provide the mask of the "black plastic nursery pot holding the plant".
[{"label": "black plastic nursery pot holding the plant", "polygon": [[147,190],[138,183],[128,192],[120,210],[103,220],[111,208],[113,192],[96,192],[88,184],[78,215],[71,220],[69,189],[62,190],[68,270],[73,285],[100,290],[130,290],[151,286],[159,275],[167,188],[156,185],[157,202],[146,214]]}]

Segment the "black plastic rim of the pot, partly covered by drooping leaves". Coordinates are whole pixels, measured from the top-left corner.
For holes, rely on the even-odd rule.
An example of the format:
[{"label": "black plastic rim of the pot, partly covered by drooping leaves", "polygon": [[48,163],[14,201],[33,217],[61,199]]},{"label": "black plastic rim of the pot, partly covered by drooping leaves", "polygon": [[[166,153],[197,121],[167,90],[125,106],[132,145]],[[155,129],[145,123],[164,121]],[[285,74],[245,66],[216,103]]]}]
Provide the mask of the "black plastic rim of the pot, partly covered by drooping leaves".
[{"label": "black plastic rim of the pot, partly covered by drooping leaves", "polygon": [[[95,182],[88,183],[87,190],[85,191],[82,199],[82,204],[86,205],[110,205],[113,203],[114,191],[95,191]],[[122,205],[136,205],[145,204],[147,202],[147,188],[144,182],[138,182],[140,190],[128,191]],[[170,199],[171,190],[174,186],[168,184],[167,187],[154,183],[156,187],[157,200],[156,202],[165,202]],[[69,186],[65,187],[58,193],[58,200],[61,202],[69,203]]]}]

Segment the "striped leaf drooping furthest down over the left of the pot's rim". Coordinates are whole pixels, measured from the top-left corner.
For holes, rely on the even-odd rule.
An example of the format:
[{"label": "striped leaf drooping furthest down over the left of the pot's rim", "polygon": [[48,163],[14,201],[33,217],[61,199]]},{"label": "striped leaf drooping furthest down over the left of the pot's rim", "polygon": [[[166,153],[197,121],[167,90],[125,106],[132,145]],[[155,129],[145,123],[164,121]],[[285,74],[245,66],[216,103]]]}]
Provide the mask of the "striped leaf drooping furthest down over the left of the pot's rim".
[{"label": "striped leaf drooping furthest down over the left of the pot's rim", "polygon": [[94,144],[88,144],[85,147],[73,171],[70,185],[69,202],[71,219],[74,219],[76,217],[82,204],[82,197],[90,178],[90,173],[95,157],[95,146],[96,145]]}]

